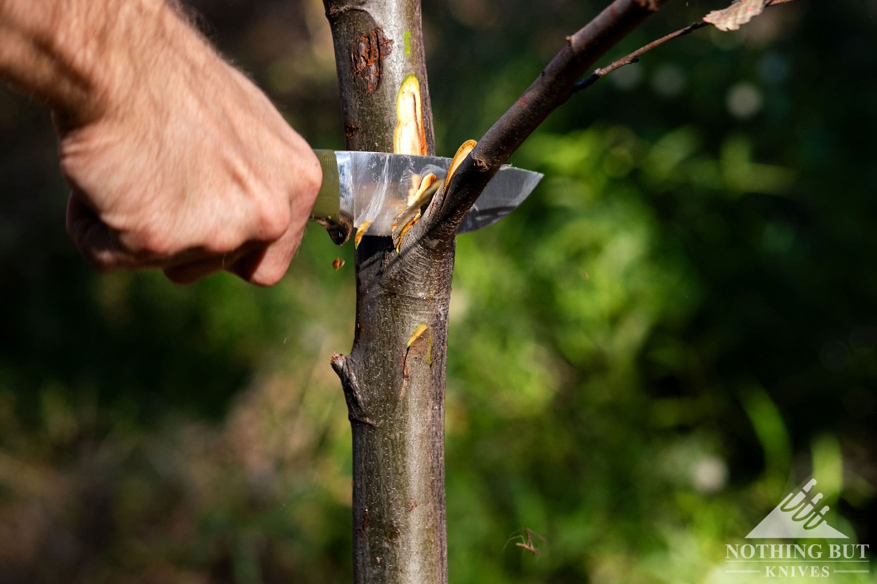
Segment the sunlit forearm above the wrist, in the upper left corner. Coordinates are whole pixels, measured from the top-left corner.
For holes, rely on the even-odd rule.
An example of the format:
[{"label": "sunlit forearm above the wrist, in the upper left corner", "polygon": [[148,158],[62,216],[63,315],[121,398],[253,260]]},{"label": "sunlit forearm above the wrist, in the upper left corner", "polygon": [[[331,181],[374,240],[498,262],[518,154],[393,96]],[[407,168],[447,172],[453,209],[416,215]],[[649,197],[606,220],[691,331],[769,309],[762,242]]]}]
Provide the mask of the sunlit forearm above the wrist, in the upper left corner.
[{"label": "sunlit forearm above the wrist, in the upper left corner", "polygon": [[184,28],[165,0],[0,0],[0,78],[87,123]]}]

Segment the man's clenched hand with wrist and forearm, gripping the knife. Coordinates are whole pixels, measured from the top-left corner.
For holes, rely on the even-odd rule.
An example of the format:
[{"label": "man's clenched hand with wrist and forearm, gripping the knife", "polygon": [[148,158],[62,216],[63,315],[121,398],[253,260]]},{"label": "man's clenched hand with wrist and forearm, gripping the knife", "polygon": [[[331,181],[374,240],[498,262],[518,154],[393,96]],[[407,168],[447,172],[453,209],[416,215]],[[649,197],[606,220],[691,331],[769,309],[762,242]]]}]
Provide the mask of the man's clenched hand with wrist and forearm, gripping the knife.
[{"label": "man's clenched hand with wrist and forearm, gripping the knife", "polygon": [[[33,24],[37,11],[57,27]],[[53,108],[68,232],[90,264],[282,278],[321,172],[253,83],[163,0],[0,0],[3,17],[49,47],[22,71],[0,25],[0,74]]]}]

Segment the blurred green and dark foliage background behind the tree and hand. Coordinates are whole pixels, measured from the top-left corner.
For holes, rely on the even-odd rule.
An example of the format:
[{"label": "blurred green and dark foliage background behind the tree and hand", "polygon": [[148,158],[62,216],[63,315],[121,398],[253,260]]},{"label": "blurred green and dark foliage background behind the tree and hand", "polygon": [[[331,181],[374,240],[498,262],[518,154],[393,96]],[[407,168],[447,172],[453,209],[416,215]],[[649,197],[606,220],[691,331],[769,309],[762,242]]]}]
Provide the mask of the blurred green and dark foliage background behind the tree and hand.
[{"label": "blurred green and dark foliage background behind the tree and hand", "polygon": [[[343,146],[318,0],[192,4],[311,144]],[[425,3],[439,153],[603,4]],[[670,3],[603,62],[723,4]],[[874,542],[875,16],[802,0],[696,32],[514,156],[541,186],[459,238],[453,582],[748,581],[724,544],[810,475],[831,524]],[[5,89],[0,190],[0,582],[351,581],[329,367],[353,338],[351,246],[312,226],[269,290],[97,275],[64,233],[46,111]],[[522,528],[535,558],[503,547]]]}]

